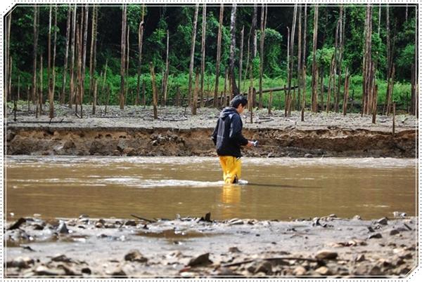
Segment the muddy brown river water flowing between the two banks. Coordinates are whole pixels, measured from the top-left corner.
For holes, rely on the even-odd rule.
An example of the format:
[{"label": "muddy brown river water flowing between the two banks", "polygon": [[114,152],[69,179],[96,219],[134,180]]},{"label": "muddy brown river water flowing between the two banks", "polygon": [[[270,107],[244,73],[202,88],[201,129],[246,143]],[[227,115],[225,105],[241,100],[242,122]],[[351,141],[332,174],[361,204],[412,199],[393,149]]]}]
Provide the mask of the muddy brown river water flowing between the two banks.
[{"label": "muddy brown river water flowing between the two banks", "polygon": [[289,220],[416,215],[415,159],[243,158],[224,185],[212,157],[7,156],[8,220],[202,216]]}]

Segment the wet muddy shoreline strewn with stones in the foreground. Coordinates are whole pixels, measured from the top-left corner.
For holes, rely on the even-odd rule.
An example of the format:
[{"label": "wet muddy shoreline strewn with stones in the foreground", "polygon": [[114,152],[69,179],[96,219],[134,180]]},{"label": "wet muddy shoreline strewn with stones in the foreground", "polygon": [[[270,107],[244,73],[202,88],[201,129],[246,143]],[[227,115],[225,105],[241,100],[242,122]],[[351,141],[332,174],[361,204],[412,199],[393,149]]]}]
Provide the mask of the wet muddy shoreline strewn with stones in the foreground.
[{"label": "wet muddy shoreline strewn with stones in the foreground", "polygon": [[25,217],[6,225],[6,277],[403,277],[416,218],[216,221]]}]

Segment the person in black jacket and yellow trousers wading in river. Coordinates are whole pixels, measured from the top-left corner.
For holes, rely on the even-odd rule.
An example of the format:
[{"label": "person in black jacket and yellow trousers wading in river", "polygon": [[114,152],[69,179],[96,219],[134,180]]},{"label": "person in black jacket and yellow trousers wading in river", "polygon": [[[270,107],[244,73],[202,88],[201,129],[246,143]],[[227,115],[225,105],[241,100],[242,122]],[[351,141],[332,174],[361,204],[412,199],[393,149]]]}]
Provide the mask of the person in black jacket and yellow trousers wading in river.
[{"label": "person in black jacket and yellow trousers wading in river", "polygon": [[248,99],[243,95],[236,95],[230,101],[230,107],[225,107],[219,115],[217,126],[212,133],[219,162],[223,169],[224,183],[237,183],[241,178],[241,146],[252,147],[254,142],[242,135],[243,113]]}]

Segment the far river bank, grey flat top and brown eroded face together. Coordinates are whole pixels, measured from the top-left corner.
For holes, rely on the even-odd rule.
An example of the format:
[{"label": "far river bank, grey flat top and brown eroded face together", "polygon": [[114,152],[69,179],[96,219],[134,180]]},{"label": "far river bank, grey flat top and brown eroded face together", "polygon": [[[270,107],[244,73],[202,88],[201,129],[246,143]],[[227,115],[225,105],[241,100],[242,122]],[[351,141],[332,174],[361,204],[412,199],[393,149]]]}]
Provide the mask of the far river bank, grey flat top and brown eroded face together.
[{"label": "far river bank, grey flat top and brown eroded face together", "polygon": [[[58,106],[56,117],[21,111],[17,120],[6,119],[6,154],[96,155],[96,156],[215,156],[210,135],[218,109],[198,109],[193,116],[187,108],[158,109],[154,120],[151,108],[128,106],[98,109],[90,114],[84,107],[83,118],[74,110]],[[283,111],[248,112],[242,115],[245,137],[258,140],[260,146],[244,150],[245,156],[264,157],[414,157],[416,156],[416,121],[414,116],[398,115],[395,134],[392,116],[360,114],[305,113],[284,116]]]}]

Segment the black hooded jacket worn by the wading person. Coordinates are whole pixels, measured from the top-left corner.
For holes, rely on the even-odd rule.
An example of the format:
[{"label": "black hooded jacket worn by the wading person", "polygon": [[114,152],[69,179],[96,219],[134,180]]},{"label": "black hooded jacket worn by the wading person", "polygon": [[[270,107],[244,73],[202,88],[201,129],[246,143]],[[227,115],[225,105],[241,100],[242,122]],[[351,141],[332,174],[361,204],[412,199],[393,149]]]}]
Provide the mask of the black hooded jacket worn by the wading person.
[{"label": "black hooded jacket worn by the wading person", "polygon": [[211,137],[219,156],[242,156],[241,146],[248,145],[248,140],[242,135],[242,126],[241,116],[234,107],[222,110]]}]

